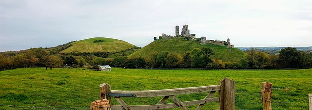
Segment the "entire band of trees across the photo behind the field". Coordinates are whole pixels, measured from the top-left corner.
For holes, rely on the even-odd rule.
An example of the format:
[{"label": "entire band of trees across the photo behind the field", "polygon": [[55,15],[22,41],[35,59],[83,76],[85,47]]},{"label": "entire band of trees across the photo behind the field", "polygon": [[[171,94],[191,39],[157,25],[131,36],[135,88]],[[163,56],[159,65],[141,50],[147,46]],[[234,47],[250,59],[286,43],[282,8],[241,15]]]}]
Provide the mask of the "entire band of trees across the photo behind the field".
[{"label": "entire band of trees across the photo behind the field", "polygon": [[[131,48],[132,49],[132,48]],[[312,53],[296,48],[281,49],[280,54],[271,55],[251,48],[238,62],[224,62],[212,59],[213,50],[208,47],[195,48],[183,56],[160,52],[150,59],[118,56],[107,59],[109,52],[55,54],[49,48],[31,48],[19,52],[0,53],[0,70],[24,67],[85,67],[111,65],[125,68],[229,68],[229,69],[273,69],[273,68],[312,68]],[[125,50],[127,51],[127,50]]]}]

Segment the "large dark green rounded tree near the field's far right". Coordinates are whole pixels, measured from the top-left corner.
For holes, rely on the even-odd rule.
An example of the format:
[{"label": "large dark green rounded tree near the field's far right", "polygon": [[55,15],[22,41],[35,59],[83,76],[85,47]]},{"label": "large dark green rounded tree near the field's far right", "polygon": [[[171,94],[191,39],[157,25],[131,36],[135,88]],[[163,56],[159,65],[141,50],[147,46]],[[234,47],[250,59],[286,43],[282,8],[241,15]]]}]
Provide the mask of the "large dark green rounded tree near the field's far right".
[{"label": "large dark green rounded tree near the field's far right", "polygon": [[296,48],[287,47],[281,49],[278,58],[283,68],[298,68],[300,63],[299,51]]}]

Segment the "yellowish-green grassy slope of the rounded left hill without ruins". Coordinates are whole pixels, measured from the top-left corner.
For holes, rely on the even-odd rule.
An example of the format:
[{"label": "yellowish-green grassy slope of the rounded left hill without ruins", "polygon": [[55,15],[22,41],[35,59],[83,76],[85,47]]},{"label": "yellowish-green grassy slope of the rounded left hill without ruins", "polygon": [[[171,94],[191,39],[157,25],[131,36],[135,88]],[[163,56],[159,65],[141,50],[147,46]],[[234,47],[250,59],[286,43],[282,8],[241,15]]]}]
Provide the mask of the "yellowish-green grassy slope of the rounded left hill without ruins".
[{"label": "yellowish-green grassy slope of the rounded left hill without ruins", "polygon": [[[104,42],[94,43],[96,40],[104,40]],[[127,48],[133,48],[134,45],[117,39],[96,37],[85,40],[80,40],[71,43],[71,47],[60,51],[59,53],[70,52],[116,52],[125,50]]]}]

